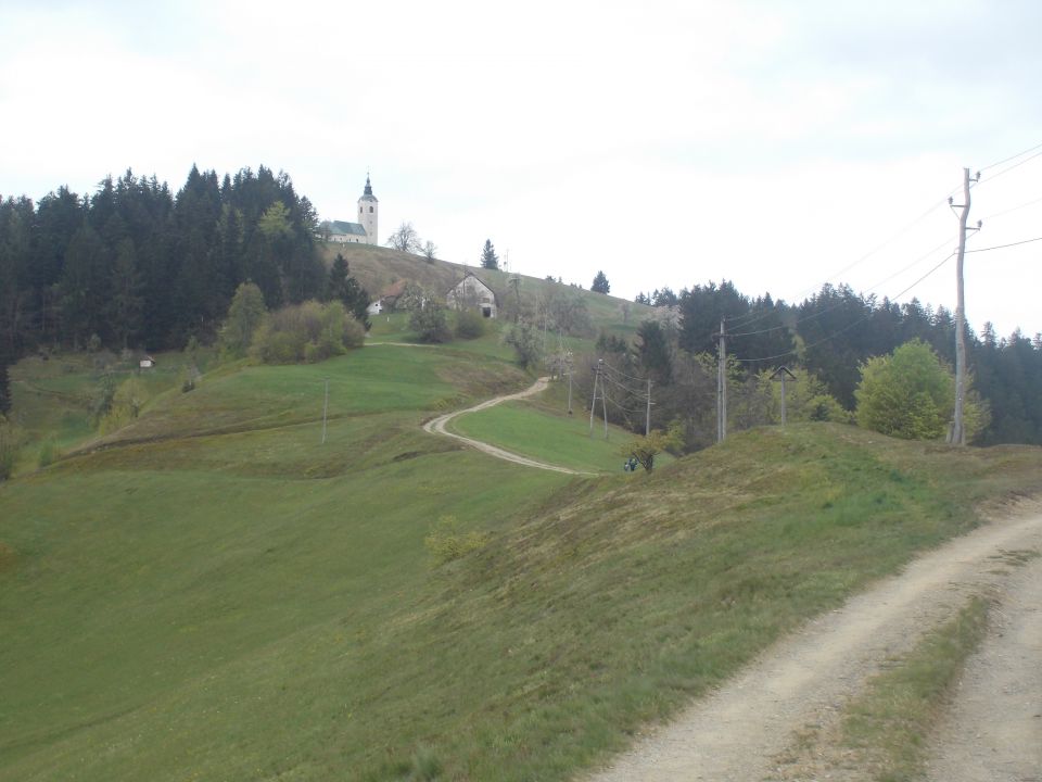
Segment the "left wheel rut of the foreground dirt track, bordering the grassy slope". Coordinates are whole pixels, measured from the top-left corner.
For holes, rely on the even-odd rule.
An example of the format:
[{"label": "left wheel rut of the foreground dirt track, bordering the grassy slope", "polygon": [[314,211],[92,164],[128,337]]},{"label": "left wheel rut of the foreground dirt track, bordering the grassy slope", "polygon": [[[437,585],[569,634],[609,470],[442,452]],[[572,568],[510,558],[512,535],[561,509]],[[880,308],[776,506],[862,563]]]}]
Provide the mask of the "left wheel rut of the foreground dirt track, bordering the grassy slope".
[{"label": "left wheel rut of the foreground dirt track, bordering the grassy slope", "polygon": [[[992,521],[949,541],[842,608],[808,622],[672,722],[651,729],[607,769],[583,779],[750,782],[770,778],[775,771],[772,759],[789,746],[796,731],[835,719],[871,676],[912,648],[924,632],[952,618],[970,595],[993,594],[1015,584],[1016,575],[999,567],[1009,552],[1040,548],[1042,509],[1038,504],[1018,517]],[[1022,658],[1025,665],[1038,665],[1031,655]],[[1012,657],[1001,659],[1009,664]],[[1028,709],[1024,719],[1042,721],[1031,716],[1038,710]],[[1039,730],[1033,724],[1025,729],[1028,733]],[[843,778],[841,770],[833,775]],[[978,778],[961,773],[950,779]]]}]

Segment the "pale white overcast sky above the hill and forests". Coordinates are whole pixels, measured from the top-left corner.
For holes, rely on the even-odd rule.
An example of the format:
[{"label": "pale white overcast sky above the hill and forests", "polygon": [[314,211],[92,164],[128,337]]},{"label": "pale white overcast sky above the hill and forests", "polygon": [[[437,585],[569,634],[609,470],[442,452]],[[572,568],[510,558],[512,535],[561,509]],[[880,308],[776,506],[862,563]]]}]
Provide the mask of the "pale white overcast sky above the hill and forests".
[{"label": "pale white overcast sky above the hill and forests", "polygon": [[[1042,143],[1040,31],[1038,0],[0,0],[0,194],[265,165],[353,219],[368,169],[381,242],[448,261],[954,308],[954,261],[902,291],[963,166],[971,248],[1042,237],[1042,148],[992,165]],[[967,255],[978,332],[1042,331],[1040,260]]]}]

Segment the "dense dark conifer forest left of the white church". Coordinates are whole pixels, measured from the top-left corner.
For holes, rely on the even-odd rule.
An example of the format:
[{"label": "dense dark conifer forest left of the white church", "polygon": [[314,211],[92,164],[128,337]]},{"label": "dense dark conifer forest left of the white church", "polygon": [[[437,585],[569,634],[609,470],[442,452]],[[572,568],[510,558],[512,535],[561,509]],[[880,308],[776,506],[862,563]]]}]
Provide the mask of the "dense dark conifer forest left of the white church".
[{"label": "dense dark conifer forest left of the white church", "polygon": [[0,412],[26,351],[208,341],[244,281],[269,310],[321,298],[318,219],[284,173],[192,166],[174,192],[129,169],[78,195],[0,199]]}]

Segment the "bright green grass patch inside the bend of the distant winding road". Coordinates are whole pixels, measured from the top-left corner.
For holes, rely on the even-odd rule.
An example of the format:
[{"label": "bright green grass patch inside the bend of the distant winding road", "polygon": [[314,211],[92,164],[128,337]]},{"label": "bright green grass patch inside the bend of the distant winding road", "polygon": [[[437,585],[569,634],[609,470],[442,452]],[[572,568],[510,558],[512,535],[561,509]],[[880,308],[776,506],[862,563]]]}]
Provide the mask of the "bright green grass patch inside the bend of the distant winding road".
[{"label": "bright green grass patch inside the bend of the distant winding road", "polygon": [[621,474],[624,458],[619,449],[633,439],[624,429],[610,426],[610,439],[605,440],[599,420],[590,436],[589,420],[582,411],[577,416],[555,415],[526,402],[507,402],[468,413],[454,418],[448,426],[460,434],[522,456],[595,472]]}]

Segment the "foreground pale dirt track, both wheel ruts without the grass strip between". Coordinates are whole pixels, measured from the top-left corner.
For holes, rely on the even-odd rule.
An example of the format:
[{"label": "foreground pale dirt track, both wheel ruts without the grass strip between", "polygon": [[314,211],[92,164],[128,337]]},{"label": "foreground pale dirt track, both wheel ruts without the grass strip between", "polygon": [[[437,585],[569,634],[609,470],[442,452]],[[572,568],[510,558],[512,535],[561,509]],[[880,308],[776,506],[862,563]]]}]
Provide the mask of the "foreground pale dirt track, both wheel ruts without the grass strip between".
[{"label": "foreground pale dirt track, both wheel ruts without the grass strip between", "polygon": [[[841,609],[809,622],[717,692],[640,737],[593,782],[682,782],[775,777],[773,758],[808,724],[835,722],[847,698],[888,658],[954,616],[970,595],[1001,617],[964,676],[932,749],[940,782],[1042,780],[1042,506],[951,541]],[[829,768],[786,779],[862,779]]]}]

